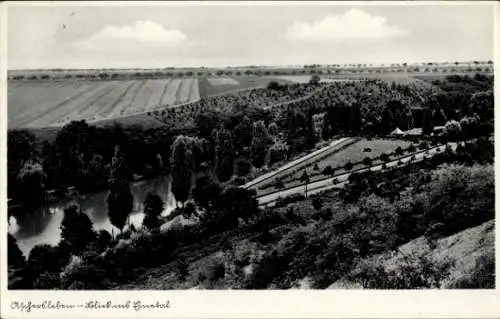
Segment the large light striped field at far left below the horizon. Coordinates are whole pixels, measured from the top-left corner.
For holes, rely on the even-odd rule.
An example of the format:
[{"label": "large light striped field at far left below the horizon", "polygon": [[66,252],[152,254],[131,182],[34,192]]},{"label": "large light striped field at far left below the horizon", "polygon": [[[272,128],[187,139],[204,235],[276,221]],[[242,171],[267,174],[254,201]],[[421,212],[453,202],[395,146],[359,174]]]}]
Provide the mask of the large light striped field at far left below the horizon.
[{"label": "large light striped field at far left below the horizon", "polygon": [[8,126],[62,126],[146,113],[200,99],[198,79],[9,82]]}]

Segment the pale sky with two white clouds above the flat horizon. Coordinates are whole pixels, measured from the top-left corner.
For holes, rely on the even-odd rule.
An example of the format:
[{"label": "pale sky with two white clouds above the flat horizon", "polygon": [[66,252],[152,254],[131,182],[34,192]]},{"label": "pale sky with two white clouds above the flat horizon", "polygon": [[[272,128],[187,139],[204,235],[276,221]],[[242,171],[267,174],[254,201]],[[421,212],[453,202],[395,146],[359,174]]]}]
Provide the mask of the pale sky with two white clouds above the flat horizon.
[{"label": "pale sky with two white clouds above the flat horizon", "polygon": [[7,13],[9,69],[493,59],[492,5],[11,4]]}]

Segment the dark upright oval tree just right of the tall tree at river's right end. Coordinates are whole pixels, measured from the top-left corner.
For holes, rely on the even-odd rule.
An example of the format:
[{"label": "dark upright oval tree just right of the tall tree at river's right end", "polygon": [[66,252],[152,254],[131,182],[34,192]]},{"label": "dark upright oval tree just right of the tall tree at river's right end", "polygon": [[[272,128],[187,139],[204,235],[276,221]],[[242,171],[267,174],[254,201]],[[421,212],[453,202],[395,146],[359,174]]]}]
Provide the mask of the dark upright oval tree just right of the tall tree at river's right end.
[{"label": "dark upright oval tree just right of the tall tree at river's right end", "polygon": [[234,148],[232,134],[227,129],[216,132],[215,171],[222,182],[231,178],[234,170]]}]

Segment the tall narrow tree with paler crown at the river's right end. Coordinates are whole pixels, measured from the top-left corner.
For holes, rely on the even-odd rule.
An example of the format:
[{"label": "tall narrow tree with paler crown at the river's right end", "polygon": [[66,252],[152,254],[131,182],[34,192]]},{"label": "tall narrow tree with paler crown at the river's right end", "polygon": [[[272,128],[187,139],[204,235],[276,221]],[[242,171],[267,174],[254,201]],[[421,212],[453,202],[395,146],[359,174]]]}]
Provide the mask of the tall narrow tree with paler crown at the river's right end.
[{"label": "tall narrow tree with paler crown at the river's right end", "polygon": [[172,144],[170,167],[172,172],[172,193],[176,201],[184,203],[191,192],[193,169],[195,166],[193,143],[190,137],[177,136]]}]

